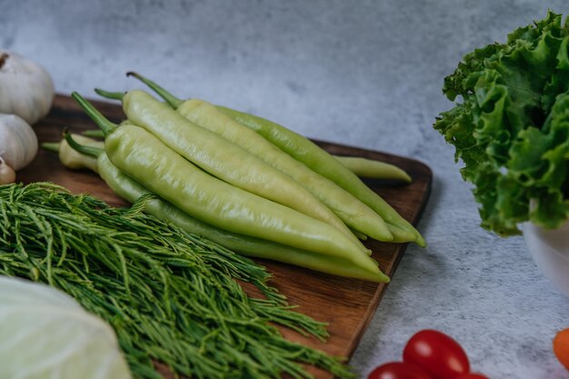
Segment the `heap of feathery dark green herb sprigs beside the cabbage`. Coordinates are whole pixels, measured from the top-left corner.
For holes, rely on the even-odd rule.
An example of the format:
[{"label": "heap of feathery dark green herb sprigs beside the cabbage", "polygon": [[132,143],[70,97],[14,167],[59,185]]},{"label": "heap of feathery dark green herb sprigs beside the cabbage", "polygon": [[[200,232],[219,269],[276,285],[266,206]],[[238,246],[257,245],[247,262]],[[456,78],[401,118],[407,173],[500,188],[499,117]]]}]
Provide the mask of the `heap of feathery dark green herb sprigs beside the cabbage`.
[{"label": "heap of feathery dark green herb sprigs beside the cabbage", "polygon": [[310,377],[301,364],[352,376],[278,332],[273,323],[326,336],[262,266],[143,213],[145,201],[114,208],[56,185],[0,185],[0,274],[50,284],[111,324],[137,379],[162,378],[153,361],[192,378]]}]

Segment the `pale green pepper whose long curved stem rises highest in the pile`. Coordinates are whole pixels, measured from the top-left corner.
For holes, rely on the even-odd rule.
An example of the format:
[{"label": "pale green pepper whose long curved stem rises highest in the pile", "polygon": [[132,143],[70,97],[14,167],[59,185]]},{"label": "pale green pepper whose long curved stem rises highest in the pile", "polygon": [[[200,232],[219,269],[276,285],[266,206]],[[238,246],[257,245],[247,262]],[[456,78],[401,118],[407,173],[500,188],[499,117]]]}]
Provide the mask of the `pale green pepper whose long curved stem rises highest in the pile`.
[{"label": "pale green pepper whose long curved stem rises highest in the pile", "polygon": [[[141,80],[144,79],[140,75],[129,74],[135,75]],[[251,154],[265,160],[269,165],[273,165],[278,170],[291,175],[294,180],[304,185],[306,189],[332,209],[352,229],[379,241],[393,241],[394,237],[384,223],[384,219],[370,207],[357,200],[352,194],[349,194],[338,185],[334,185],[329,179],[318,175],[307,166],[296,161],[290,155],[283,154],[277,146],[265,140],[263,136],[256,134],[255,131],[244,125],[234,122],[228,116],[216,110],[214,105],[197,99],[183,102],[168,94],[163,88],[146,79],[144,80],[146,84],[152,84],[151,88],[158,95],[164,97],[169,105],[172,105],[178,113],[184,115],[190,121],[204,126],[215,134],[222,135],[235,145],[240,145]],[[133,96],[131,95],[133,93],[132,91],[127,93],[123,99],[123,107],[127,115],[129,112],[128,108],[131,105],[129,97]],[[142,120],[133,121],[135,123],[142,122]]]}]

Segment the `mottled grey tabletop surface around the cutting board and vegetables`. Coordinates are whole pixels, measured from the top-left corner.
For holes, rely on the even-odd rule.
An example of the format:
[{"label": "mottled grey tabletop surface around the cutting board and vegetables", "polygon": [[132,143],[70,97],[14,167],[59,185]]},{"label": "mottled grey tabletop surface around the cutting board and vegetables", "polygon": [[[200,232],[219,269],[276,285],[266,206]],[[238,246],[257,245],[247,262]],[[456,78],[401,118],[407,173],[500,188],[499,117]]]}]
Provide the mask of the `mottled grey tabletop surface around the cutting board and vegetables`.
[{"label": "mottled grey tabletop surface around the cutting board and vegetables", "polygon": [[351,364],[365,377],[435,328],[493,379],[562,379],[551,342],[569,327],[569,299],[521,237],[478,226],[454,150],[432,128],[461,57],[548,8],[569,11],[562,0],[0,0],[0,48],[45,65],[64,94],[134,88],[125,72],[136,70],[183,97],[431,166],[429,245],[408,248]]}]

